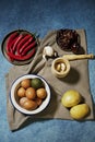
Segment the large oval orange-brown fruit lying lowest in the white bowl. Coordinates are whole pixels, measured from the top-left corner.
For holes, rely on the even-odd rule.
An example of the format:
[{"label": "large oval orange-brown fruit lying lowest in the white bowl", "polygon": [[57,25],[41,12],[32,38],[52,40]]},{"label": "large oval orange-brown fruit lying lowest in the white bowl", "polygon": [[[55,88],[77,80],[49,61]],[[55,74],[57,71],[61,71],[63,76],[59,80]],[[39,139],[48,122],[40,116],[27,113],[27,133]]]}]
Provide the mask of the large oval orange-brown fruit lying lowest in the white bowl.
[{"label": "large oval orange-brown fruit lying lowest in the white bowl", "polygon": [[34,102],[34,100],[26,100],[24,104],[23,104],[23,107],[27,110],[34,110],[37,108],[37,103]]}]

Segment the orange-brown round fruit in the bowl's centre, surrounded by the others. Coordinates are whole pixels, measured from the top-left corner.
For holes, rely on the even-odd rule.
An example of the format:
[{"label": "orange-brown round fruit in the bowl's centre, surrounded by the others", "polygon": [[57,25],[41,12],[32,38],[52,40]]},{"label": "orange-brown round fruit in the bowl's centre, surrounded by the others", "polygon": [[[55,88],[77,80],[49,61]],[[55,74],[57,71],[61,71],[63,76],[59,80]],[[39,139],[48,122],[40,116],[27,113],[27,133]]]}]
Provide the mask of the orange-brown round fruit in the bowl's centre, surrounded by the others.
[{"label": "orange-brown round fruit in the bowl's centre, surrounded by the others", "polygon": [[26,93],[25,94],[26,94],[26,97],[28,99],[34,99],[36,97],[36,91],[35,91],[34,87],[26,88]]}]

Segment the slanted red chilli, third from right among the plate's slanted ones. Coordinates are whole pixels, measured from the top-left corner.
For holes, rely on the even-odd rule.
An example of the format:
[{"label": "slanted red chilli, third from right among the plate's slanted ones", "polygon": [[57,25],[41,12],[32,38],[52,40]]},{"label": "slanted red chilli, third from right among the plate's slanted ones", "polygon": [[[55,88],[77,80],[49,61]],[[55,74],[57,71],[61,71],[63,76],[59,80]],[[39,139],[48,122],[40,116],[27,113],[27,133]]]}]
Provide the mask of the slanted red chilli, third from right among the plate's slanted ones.
[{"label": "slanted red chilli, third from right among the plate's slanted ones", "polygon": [[26,34],[26,35],[24,36],[24,38],[19,43],[17,48],[16,48],[16,51],[17,51],[19,55],[21,55],[21,54],[20,54],[20,50],[21,50],[22,46],[27,42],[27,39],[28,39],[31,36],[32,36],[31,34]]}]

